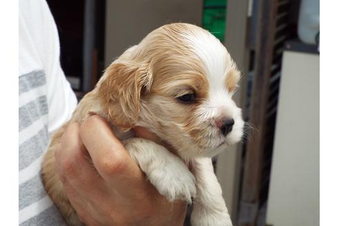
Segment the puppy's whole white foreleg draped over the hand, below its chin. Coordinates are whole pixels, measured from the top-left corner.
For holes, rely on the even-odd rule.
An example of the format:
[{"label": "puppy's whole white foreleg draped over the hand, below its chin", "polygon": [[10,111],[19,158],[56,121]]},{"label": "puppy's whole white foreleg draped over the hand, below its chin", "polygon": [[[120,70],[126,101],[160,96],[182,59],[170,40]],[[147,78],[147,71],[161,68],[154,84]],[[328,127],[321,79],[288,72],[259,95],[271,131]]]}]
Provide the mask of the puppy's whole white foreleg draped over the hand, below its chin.
[{"label": "puppy's whole white foreleg draped over the hand, below its chin", "polygon": [[195,178],[178,156],[143,138],[130,138],[123,144],[160,194],[169,201],[192,202],[196,196]]}]

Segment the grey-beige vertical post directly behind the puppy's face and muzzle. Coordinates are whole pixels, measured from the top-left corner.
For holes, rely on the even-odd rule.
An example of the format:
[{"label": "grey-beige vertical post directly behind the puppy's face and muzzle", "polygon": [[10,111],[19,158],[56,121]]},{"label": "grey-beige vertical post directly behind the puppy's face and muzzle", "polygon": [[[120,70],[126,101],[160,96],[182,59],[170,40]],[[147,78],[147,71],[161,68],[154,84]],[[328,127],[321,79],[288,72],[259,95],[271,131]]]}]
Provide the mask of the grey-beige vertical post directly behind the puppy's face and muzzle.
[{"label": "grey-beige vertical post directly behind the puppy's face and muzzle", "polygon": [[[228,0],[227,19],[225,31],[225,46],[241,71],[239,89],[234,101],[245,109],[247,93],[247,70],[249,61],[249,48],[247,45],[247,33],[249,21],[247,19],[248,0]],[[234,23],[234,21],[237,21]],[[223,196],[232,220],[236,220],[238,214],[240,166],[243,144],[239,143],[229,150],[218,155],[216,176],[223,188]],[[234,221],[235,222],[235,221]]]}]

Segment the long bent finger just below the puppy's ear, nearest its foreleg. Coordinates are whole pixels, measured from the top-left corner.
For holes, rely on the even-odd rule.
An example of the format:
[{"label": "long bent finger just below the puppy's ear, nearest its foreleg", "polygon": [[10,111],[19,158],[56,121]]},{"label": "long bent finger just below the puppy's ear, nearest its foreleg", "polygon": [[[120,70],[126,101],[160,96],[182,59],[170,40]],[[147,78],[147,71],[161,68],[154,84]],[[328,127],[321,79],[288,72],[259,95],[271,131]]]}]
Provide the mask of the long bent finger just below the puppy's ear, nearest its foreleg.
[{"label": "long bent finger just below the puppy's ear, nearest its foreleg", "polygon": [[101,116],[90,116],[80,127],[80,137],[105,181],[123,190],[145,182],[140,168]]}]

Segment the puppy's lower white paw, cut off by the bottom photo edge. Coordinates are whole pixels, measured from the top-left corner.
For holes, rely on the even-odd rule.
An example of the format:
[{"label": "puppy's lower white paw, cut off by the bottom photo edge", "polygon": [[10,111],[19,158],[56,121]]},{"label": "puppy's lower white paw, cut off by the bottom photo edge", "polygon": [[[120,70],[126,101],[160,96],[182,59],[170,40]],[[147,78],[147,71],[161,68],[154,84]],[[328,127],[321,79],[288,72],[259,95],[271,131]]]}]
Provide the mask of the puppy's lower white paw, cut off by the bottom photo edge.
[{"label": "puppy's lower white paw, cut off by the bottom photo edge", "polygon": [[232,226],[232,220],[227,211],[219,212],[193,207],[191,224],[192,226]]}]

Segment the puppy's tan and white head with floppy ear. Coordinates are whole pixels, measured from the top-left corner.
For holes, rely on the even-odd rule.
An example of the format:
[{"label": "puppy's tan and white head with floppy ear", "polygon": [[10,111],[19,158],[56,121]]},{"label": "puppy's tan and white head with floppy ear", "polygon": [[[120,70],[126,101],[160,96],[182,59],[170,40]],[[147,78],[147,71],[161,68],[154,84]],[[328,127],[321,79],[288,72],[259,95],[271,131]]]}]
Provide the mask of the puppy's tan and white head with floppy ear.
[{"label": "puppy's tan and white head with floppy ear", "polygon": [[146,127],[183,158],[213,156],[243,135],[232,100],[239,79],[218,39],[195,25],[172,23],[107,68],[99,98],[114,124]]}]

